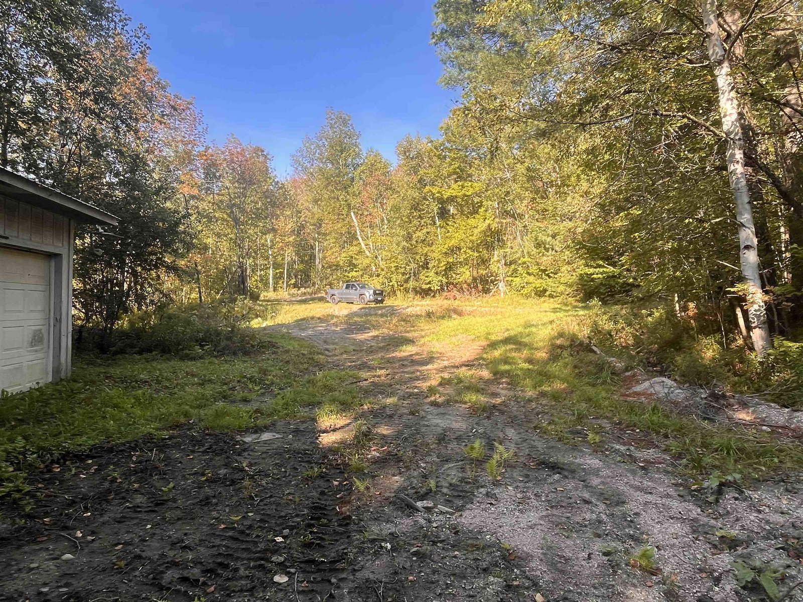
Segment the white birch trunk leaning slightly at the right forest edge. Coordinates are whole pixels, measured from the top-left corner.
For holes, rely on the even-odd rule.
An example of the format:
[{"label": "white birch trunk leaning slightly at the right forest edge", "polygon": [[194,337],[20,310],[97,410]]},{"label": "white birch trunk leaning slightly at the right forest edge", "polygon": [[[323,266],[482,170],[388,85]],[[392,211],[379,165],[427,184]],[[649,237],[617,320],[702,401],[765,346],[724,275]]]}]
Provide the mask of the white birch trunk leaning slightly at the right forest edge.
[{"label": "white birch trunk leaning slightly at the right forest edge", "polygon": [[722,129],[728,136],[728,179],[736,201],[736,223],[739,228],[740,267],[747,285],[750,336],[759,356],[772,348],[769,335],[767,309],[761,290],[761,275],[758,259],[756,226],[753,224],[752,205],[744,172],[744,137],[739,120],[739,104],[731,75],[731,63],[719,34],[716,0],[703,0],[703,23],[705,25],[708,58],[716,76],[719,89],[719,114]]}]

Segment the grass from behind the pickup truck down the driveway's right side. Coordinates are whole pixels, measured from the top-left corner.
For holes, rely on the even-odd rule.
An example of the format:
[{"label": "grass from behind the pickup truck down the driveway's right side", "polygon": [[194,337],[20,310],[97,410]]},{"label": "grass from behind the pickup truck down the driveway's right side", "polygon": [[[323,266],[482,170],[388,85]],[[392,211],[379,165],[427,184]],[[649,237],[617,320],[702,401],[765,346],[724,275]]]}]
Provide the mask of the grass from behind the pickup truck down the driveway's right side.
[{"label": "grass from behind the pickup truck down the driveway's right side", "polygon": [[[283,307],[274,320],[368,319],[383,332],[414,336],[446,353],[467,340],[480,341],[485,344],[480,359],[491,374],[534,393],[544,417],[540,432],[561,441],[574,441],[567,433],[573,427],[596,429],[594,421],[601,418],[626,429],[654,433],[689,474],[721,472],[761,478],[803,469],[803,448],[795,441],[739,425],[702,422],[661,405],[619,397],[619,376],[583,342],[599,319],[598,308],[507,297],[416,301],[396,309],[369,316],[352,306],[305,303]],[[447,389],[443,393],[448,401],[487,411],[484,388],[470,376],[452,376],[428,393],[441,393],[441,385]]]}]

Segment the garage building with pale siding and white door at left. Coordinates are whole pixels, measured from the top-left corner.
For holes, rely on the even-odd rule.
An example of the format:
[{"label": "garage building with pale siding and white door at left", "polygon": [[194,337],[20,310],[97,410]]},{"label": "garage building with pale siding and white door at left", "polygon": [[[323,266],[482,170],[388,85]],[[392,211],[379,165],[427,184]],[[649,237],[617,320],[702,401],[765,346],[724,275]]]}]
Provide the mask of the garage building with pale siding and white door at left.
[{"label": "garage building with pale siding and white door at left", "polygon": [[0,168],[0,389],[7,393],[70,374],[78,223],[117,219]]}]

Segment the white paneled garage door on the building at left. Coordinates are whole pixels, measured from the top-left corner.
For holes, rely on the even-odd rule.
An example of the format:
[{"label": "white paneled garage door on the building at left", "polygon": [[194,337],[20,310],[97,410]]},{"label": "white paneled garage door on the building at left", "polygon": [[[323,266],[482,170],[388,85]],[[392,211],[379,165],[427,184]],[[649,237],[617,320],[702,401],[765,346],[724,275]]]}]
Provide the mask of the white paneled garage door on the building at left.
[{"label": "white paneled garage door on the building at left", "polygon": [[50,258],[0,247],[0,389],[50,380]]}]

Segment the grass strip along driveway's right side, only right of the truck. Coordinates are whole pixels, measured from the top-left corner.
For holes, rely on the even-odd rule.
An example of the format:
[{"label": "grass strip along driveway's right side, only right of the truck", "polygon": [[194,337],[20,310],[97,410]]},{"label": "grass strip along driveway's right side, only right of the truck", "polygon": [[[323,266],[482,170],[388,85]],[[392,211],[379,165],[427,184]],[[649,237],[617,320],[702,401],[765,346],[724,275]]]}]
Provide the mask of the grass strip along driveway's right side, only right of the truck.
[{"label": "grass strip along driveway's right side, only right of the truck", "polygon": [[803,447],[795,441],[622,400],[618,377],[581,341],[587,314],[577,305],[485,300],[473,303],[466,315],[431,324],[424,340],[456,346],[469,336],[486,343],[482,359],[487,368],[537,395],[545,414],[540,430],[551,437],[568,440],[567,429],[592,425],[591,417],[604,418],[655,433],[691,474],[719,471],[760,478],[803,468]]}]

